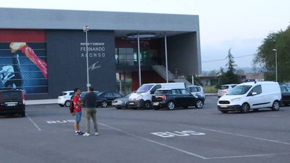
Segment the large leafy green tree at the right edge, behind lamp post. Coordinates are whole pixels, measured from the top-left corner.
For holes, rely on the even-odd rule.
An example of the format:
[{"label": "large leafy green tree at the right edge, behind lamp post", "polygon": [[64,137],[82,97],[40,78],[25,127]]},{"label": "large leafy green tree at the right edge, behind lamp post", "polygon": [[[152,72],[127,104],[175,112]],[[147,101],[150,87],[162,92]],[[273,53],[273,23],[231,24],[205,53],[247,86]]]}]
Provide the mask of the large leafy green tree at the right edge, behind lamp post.
[{"label": "large leafy green tree at the right edge, behind lamp post", "polygon": [[254,58],[254,65],[262,67],[266,80],[275,80],[277,49],[278,81],[290,81],[290,26],[286,30],[271,32],[258,47]]}]

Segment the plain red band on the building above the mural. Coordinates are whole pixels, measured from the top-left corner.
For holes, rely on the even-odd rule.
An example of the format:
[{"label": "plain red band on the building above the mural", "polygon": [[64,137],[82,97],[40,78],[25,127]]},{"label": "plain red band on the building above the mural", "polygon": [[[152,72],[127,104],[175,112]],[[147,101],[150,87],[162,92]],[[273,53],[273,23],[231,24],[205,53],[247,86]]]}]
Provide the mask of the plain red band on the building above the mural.
[{"label": "plain red band on the building above the mural", "polygon": [[0,29],[0,42],[45,42],[45,30]]}]

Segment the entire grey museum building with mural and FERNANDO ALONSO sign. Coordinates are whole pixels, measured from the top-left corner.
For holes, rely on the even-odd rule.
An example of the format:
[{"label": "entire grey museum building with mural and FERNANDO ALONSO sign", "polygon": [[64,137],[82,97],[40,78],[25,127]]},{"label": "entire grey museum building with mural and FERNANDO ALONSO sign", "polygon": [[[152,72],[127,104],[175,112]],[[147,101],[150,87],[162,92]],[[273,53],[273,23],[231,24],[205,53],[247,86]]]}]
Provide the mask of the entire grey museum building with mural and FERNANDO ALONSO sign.
[{"label": "entire grey museum building with mural and FERNANDO ALONSO sign", "polygon": [[85,90],[87,50],[89,80],[99,91],[136,90],[138,57],[142,83],[164,82],[165,44],[173,76],[201,72],[195,15],[9,8],[0,15],[0,89],[23,89],[27,99]]}]

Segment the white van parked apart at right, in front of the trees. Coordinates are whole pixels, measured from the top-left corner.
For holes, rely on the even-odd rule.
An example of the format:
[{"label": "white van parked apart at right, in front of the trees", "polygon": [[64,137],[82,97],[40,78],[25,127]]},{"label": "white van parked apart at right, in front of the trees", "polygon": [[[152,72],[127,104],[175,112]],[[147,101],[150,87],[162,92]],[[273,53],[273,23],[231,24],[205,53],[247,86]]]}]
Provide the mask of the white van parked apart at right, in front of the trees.
[{"label": "white van parked apart at right, in front of the trees", "polygon": [[280,108],[281,91],[277,82],[246,82],[237,85],[234,89],[220,97],[217,108],[222,113],[249,110],[258,111],[259,108],[271,108],[278,111]]}]

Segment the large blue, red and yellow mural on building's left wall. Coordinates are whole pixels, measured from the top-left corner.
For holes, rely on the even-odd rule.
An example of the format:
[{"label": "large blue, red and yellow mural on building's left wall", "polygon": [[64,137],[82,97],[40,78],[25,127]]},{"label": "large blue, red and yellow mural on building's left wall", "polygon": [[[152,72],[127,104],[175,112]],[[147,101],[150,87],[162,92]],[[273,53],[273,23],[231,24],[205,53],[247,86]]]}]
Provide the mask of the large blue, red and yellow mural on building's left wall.
[{"label": "large blue, red and yellow mural on building's left wall", "polygon": [[45,42],[0,42],[0,90],[47,92]]}]

